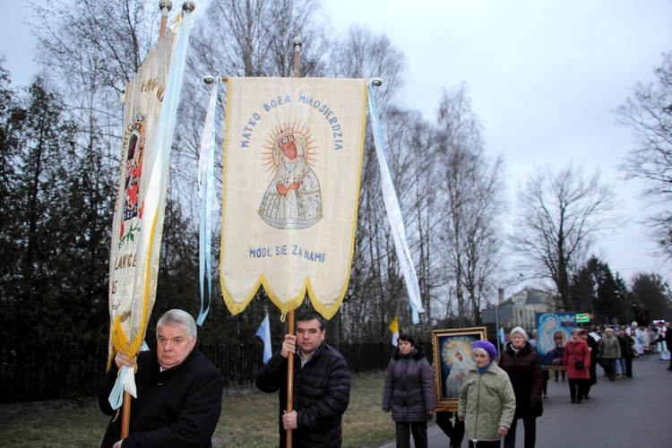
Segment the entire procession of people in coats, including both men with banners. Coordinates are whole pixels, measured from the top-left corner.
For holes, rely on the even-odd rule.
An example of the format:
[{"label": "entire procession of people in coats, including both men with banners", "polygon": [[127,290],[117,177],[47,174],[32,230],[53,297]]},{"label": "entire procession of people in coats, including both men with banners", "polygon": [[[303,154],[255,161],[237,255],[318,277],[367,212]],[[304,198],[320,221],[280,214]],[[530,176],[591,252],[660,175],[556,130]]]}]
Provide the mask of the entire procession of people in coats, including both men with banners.
[{"label": "entire procession of people in coats, including both men with banners", "polygon": [[[348,364],[325,342],[321,314],[305,308],[295,323],[296,334],[285,334],[281,348],[257,372],[256,387],[261,392],[278,392],[279,446],[340,447],[342,417],[350,398]],[[570,400],[579,404],[590,399],[598,363],[609,381],[616,381],[633,378],[633,358],[644,353],[672,358],[668,349],[672,347],[670,323],[654,322],[646,329],[633,323],[590,328],[590,332],[573,328],[569,340],[564,332],[549,328],[547,335],[553,335],[554,347],[543,358],[538,354],[535,332],[532,334],[530,340],[523,328],[513,328],[499,354],[491,342],[473,336],[446,344],[454,356],[452,375],[460,376],[459,382],[448,378],[441,382],[446,384],[445,391],[457,392],[459,384],[458,396],[448,396],[457,401],[455,416],[455,409],[437,409],[438,382],[425,349],[416,345],[410,334],[399,335],[385,375],[382,401],[383,411],[392,414],[396,446],[410,447],[412,436],[416,448],[427,448],[427,422],[436,413],[436,424],[451,438],[451,447],[461,446],[466,435],[470,448],[499,447],[503,439],[505,448],[513,448],[517,422],[522,419],[525,448],[533,448],[536,418],[542,415],[547,398],[544,370],[551,366],[564,370]],[[133,358],[117,352],[110,359],[100,384],[99,408],[112,417],[101,446],[211,446],[221,413],[222,379],[197,348],[197,340],[194,317],[172,309],[159,318],[156,349]],[[467,362],[469,359],[472,362]],[[299,369],[291,381],[289,366]],[[672,360],[667,368],[672,371]],[[134,414],[130,423],[124,416],[118,418],[117,412],[129,376],[137,394],[130,405]],[[291,410],[285,410],[288,408]],[[454,424],[452,417],[456,418]]]}]

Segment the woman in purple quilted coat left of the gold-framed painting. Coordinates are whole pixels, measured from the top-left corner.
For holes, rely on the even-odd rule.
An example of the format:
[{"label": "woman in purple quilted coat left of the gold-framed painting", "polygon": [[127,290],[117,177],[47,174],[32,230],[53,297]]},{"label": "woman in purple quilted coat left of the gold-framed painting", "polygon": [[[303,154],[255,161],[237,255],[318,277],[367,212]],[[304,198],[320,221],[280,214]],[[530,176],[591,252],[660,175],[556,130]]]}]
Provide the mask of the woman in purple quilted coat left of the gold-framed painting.
[{"label": "woman in purple quilted coat left of the gold-framed painting", "polygon": [[385,374],[383,410],[392,410],[398,447],[410,447],[412,432],[416,447],[426,448],[427,421],[436,407],[434,371],[412,336],[400,334],[398,344]]}]

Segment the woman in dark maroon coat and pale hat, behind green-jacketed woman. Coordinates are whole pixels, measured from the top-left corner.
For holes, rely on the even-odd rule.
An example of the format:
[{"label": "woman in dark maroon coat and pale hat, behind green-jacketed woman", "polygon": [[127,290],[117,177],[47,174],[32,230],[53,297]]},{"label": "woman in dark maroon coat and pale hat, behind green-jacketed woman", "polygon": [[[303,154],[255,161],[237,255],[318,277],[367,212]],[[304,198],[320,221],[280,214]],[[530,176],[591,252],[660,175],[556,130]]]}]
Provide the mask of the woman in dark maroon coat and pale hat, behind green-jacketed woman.
[{"label": "woman in dark maroon coat and pale hat, behind green-jacketed woman", "polygon": [[525,425],[525,448],[534,448],[537,439],[536,418],[542,412],[544,378],[537,351],[532,349],[528,333],[521,327],[511,331],[509,342],[499,358],[499,366],[509,375],[516,396],[516,411],[509,432],[504,437],[504,448],[515,446],[518,418],[522,418]]}]

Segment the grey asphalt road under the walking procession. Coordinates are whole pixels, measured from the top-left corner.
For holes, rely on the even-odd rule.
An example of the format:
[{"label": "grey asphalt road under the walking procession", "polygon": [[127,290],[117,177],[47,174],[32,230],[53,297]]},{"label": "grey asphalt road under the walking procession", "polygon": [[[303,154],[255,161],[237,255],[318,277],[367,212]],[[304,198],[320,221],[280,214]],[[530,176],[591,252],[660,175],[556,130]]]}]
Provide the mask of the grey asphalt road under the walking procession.
[{"label": "grey asphalt road under the walking procession", "polygon": [[[572,404],[569,385],[548,382],[544,415],[537,418],[538,448],[672,446],[672,372],[659,355],[633,359],[633,378],[609,382],[598,366],[590,400]],[[449,439],[438,426],[427,429],[429,448],[446,448]],[[465,435],[461,446],[468,444]],[[394,442],[381,448],[393,448]],[[414,446],[411,441],[411,446]],[[518,422],[516,446],[524,446]]]}]

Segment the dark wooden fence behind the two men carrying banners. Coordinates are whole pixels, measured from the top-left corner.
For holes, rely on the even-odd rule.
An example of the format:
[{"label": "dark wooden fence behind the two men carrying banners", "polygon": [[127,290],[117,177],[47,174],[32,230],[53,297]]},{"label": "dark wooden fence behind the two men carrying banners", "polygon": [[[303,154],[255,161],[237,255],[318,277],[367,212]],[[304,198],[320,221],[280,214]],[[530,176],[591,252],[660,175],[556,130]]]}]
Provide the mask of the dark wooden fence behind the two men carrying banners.
[{"label": "dark wooden fence behind the two men carrying banners", "polygon": [[[431,358],[431,346],[425,347]],[[353,374],[382,371],[392,353],[392,346],[382,343],[335,344],[334,348],[346,358]],[[254,384],[254,376],[263,364],[259,343],[200,345],[199,349],[220,370],[225,387]],[[4,345],[0,347],[0,402],[95,396],[107,358],[107,345]]]}]

